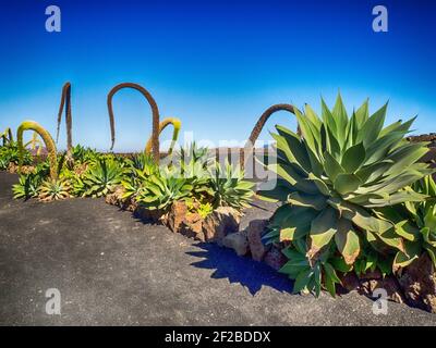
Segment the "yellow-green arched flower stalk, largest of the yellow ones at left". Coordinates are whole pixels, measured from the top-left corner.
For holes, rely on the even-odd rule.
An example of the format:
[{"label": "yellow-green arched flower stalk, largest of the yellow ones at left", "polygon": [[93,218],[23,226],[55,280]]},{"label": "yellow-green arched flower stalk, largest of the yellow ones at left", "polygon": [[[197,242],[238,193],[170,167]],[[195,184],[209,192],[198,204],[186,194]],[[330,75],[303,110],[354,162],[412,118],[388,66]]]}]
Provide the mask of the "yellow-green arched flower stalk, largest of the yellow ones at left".
[{"label": "yellow-green arched flower stalk, largest of the yellow ones at left", "polygon": [[56,181],[58,178],[58,159],[57,159],[57,150],[53,138],[51,137],[50,133],[48,133],[48,130],[46,130],[41,125],[39,125],[35,121],[24,121],[16,130],[16,140],[19,144],[19,156],[20,156],[20,171],[24,156],[24,146],[23,146],[24,130],[35,130],[43,138],[50,161],[50,178]]}]

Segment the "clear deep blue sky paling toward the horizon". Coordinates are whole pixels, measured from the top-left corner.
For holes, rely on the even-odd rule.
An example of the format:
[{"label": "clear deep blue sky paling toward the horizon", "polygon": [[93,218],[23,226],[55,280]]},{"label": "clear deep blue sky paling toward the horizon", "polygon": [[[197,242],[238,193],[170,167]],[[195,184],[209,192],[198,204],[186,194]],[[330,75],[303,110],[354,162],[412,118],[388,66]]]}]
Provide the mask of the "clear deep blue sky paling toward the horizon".
[{"label": "clear deep blue sky paling toward the horizon", "polygon": [[[64,82],[72,83],[73,141],[108,150],[106,97],[135,82],[161,116],[182,120],[195,139],[244,140],[272,103],[319,110],[338,90],[348,109],[390,100],[388,121],[419,114],[416,133],[436,132],[434,1],[45,1],[2,3],[0,129],[35,120],[55,133]],[[45,9],[62,11],[62,32],[45,30]],[[372,9],[388,9],[374,33]],[[116,151],[141,150],[150,110],[135,91],[114,98]],[[278,113],[276,123],[295,127]],[[64,140],[62,128],[60,147]],[[170,138],[162,134],[162,141]]]}]

